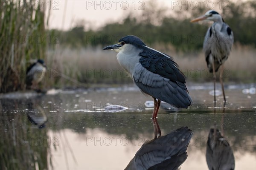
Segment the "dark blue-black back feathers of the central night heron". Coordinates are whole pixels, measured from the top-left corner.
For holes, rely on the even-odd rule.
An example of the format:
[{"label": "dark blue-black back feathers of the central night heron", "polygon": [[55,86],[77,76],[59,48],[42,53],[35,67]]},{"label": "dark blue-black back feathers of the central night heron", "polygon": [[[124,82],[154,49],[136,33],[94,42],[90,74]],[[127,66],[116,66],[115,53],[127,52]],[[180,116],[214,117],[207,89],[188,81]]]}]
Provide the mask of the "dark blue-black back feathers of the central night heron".
[{"label": "dark blue-black back feathers of the central night heron", "polygon": [[140,64],[152,73],[159,74],[173,82],[186,82],[185,76],[180,71],[179,66],[169,55],[163,55],[163,53],[158,51],[147,49],[142,51],[140,56]]}]

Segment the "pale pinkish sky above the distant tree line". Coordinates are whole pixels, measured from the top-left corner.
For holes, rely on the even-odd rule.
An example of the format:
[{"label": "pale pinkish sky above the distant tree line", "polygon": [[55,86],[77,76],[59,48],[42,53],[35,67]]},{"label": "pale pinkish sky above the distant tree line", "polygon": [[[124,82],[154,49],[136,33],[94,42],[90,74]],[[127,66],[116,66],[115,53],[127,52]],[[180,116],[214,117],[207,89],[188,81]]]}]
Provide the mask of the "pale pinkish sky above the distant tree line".
[{"label": "pale pinkish sky above the distant tree line", "polygon": [[[152,12],[151,0],[52,0],[44,6],[49,12],[49,28],[68,30],[84,20],[86,28],[99,28],[105,23],[116,22],[128,16],[141,12]],[[49,3],[51,2],[51,3]],[[228,1],[211,0],[154,0],[154,9],[166,9],[166,15],[174,14],[173,10],[185,14],[187,9],[205,7],[208,10],[221,11],[222,7],[228,7]],[[51,9],[51,10],[49,10]],[[153,13],[153,12],[152,12]],[[179,16],[178,16],[179,17]]]}]

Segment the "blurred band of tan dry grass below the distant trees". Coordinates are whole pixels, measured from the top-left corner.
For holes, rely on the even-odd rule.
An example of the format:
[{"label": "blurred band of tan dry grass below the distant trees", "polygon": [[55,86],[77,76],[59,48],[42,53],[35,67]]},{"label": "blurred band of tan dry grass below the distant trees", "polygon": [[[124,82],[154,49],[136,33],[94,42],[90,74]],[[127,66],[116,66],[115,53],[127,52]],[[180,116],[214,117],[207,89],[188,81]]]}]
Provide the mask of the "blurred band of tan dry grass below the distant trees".
[{"label": "blurred band of tan dry grass below the distant trees", "polygon": [[[187,82],[212,80],[212,74],[207,70],[203,52],[183,54],[175,51],[171,45],[154,45],[153,48],[174,57],[186,75]],[[58,47],[57,49],[48,51],[49,67],[72,78],[72,80],[67,80],[52,77],[54,82],[58,82],[58,87],[81,86],[76,81],[87,83],[86,85],[132,83],[116,61],[114,51],[103,51],[102,47],[81,49]],[[224,64],[224,81],[255,82],[255,65],[255,48],[234,45],[229,59]],[[59,79],[60,81],[58,81]],[[74,79],[75,81],[73,81]]]}]

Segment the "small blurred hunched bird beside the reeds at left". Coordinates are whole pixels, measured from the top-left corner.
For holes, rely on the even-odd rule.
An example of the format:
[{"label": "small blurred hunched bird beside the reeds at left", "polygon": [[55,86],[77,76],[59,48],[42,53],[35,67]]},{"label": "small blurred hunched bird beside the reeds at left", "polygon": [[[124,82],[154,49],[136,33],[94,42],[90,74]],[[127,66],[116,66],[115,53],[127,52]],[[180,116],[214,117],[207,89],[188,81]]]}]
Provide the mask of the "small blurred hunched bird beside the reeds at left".
[{"label": "small blurred hunched bird beside the reeds at left", "polygon": [[38,59],[32,65],[27,68],[26,71],[26,85],[34,87],[44,77],[46,72],[46,65],[43,59]]}]

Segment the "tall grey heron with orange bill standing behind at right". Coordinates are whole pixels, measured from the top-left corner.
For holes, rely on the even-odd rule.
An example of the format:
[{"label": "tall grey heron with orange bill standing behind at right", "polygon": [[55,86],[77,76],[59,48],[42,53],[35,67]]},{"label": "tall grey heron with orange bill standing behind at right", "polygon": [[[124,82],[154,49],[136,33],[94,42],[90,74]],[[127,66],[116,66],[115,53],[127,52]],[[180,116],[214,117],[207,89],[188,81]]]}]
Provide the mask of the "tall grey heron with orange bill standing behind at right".
[{"label": "tall grey heron with orange bill standing behind at right", "polygon": [[214,23],[211,27],[208,28],[207,33],[204,38],[204,54],[207,62],[207,67],[209,72],[213,72],[214,77],[214,104],[216,104],[216,95],[215,95],[215,82],[216,75],[215,72],[218,71],[221,66],[220,72],[220,82],[222,93],[224,97],[224,105],[226,103],[226,97],[224,92],[224,85],[222,81],[223,74],[223,64],[227,60],[231,47],[234,42],[233,32],[227,23],[224,22],[221,15],[213,10],[207,11],[203,16],[191,20],[191,22],[197,22],[200,20],[210,20]]}]

